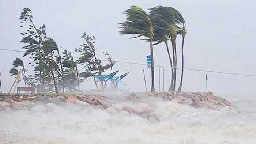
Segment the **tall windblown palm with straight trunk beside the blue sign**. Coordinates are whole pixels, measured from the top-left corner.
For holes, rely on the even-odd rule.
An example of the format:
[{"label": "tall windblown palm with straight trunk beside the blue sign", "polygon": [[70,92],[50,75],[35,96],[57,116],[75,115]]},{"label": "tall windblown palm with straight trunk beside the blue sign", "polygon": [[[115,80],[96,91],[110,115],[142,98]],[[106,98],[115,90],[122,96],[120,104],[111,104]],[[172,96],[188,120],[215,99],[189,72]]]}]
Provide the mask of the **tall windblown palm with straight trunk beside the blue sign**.
[{"label": "tall windblown palm with straight trunk beside the blue sign", "polygon": [[153,37],[154,28],[152,19],[142,8],[138,6],[131,6],[129,9],[124,11],[126,14],[126,21],[120,24],[121,35],[131,34],[137,35],[131,38],[146,37],[146,40],[150,42],[150,55],[151,55],[151,91],[155,91],[154,82],[154,55],[153,55]]}]

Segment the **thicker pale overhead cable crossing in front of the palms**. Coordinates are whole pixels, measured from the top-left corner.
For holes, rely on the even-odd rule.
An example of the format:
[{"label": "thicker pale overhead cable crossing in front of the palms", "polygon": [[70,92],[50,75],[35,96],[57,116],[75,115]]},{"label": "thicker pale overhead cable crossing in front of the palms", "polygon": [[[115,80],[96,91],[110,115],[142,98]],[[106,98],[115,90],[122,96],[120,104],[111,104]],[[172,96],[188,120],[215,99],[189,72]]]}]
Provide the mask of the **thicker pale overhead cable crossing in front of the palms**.
[{"label": "thicker pale overhead cable crossing in front of the palms", "polygon": [[[12,52],[22,52],[22,53],[31,53],[31,52],[26,52],[26,51],[22,51],[22,50],[12,50],[12,49],[2,49],[0,48],[0,50],[6,50],[6,51],[12,51]],[[33,52],[32,52],[33,53]],[[32,54],[31,53],[31,54]],[[44,53],[33,53],[33,54],[42,54],[42,55],[47,55]],[[58,56],[57,54],[53,54],[53,56]],[[76,57],[74,56],[74,58],[80,58],[80,57]],[[89,60],[91,58],[83,58],[85,60]],[[99,59],[101,61],[108,61],[108,60],[103,60],[103,59]],[[137,63],[137,62],[127,62],[127,61],[116,61],[119,63],[124,63],[124,64],[135,64],[135,65],[147,65],[147,64],[142,64],[142,63]],[[168,67],[168,66],[164,66],[164,65],[154,65],[155,67],[164,67],[164,68],[176,68],[176,69],[182,69],[182,68],[178,68],[178,67]],[[211,72],[211,73],[222,73],[222,74],[227,74],[227,75],[239,75],[239,76],[251,76],[251,77],[256,77],[256,75],[248,75],[248,74],[241,74],[241,73],[231,73],[231,72],[220,72],[220,71],[211,71],[211,70],[205,70],[205,69],[194,69],[194,68],[183,68],[184,70],[190,70],[190,71],[200,71],[200,72]]]}]

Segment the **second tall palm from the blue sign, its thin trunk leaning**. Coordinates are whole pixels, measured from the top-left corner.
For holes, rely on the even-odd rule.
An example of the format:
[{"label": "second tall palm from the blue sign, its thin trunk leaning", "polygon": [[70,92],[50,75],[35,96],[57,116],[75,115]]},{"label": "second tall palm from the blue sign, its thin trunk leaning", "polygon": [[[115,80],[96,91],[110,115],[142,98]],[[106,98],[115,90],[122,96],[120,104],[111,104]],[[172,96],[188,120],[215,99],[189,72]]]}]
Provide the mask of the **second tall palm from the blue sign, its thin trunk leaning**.
[{"label": "second tall palm from the blue sign, its thin trunk leaning", "polygon": [[[154,45],[157,45],[161,42],[164,42],[166,45],[167,54],[170,61],[171,66],[171,83],[170,88],[173,88],[173,62],[172,56],[169,51],[168,39],[170,37],[171,29],[170,29],[170,20],[173,19],[173,15],[167,11],[166,7],[158,6],[150,8],[150,15],[152,17],[153,27],[155,29]],[[174,58],[174,57],[173,57]]]}]

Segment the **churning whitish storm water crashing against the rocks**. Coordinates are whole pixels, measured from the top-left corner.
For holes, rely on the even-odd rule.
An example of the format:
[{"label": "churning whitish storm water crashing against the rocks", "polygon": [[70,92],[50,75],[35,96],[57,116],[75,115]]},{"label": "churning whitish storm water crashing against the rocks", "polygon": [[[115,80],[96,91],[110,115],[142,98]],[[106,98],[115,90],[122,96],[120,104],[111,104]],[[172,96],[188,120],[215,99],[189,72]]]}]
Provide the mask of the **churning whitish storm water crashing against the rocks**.
[{"label": "churning whitish storm water crashing against the rocks", "polygon": [[63,110],[0,113],[1,144],[255,144],[256,99],[225,97],[238,111],[203,110],[144,98],[159,121],[124,111],[75,105]]}]

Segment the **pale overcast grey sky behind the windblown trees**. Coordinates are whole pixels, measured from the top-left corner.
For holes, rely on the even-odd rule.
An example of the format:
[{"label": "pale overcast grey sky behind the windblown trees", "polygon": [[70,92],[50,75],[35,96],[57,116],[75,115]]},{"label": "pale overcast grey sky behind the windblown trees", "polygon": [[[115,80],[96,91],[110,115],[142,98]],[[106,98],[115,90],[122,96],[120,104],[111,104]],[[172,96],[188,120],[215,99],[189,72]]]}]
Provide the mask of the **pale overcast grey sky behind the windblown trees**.
[{"label": "pale overcast grey sky behind the windblown trees", "polygon": [[[19,33],[24,29],[20,27],[19,15],[23,7],[28,7],[33,11],[35,25],[39,27],[44,23],[47,26],[48,36],[54,37],[59,46],[71,50],[74,56],[78,56],[74,53],[74,48],[83,43],[80,36],[85,31],[97,38],[98,53],[107,51],[118,61],[146,64],[146,55],[150,54],[149,43],[121,36],[118,33],[117,22],[125,20],[122,12],[131,5],[137,5],[144,10],[164,5],[179,10],[187,22],[188,34],[184,46],[185,68],[256,75],[255,4],[253,0],[0,0],[0,48],[22,50],[23,45],[20,43],[22,36]],[[181,37],[178,37],[179,57],[181,57],[180,46]],[[155,46],[154,54],[155,64],[169,66],[164,44]],[[9,71],[15,57],[22,58],[22,53],[0,50],[0,71]],[[28,58],[23,60],[28,63]],[[128,69],[131,74],[124,83],[133,91],[144,91],[141,67],[117,64],[115,69]],[[178,61],[178,67],[181,67],[181,60]],[[26,65],[26,68],[29,69],[28,73],[33,73],[31,66]],[[81,67],[80,71],[82,70]],[[145,68],[145,70],[147,87],[150,89],[150,69]],[[170,72],[165,70],[165,90],[167,90]],[[158,68],[155,74],[155,85],[158,90]],[[205,74],[205,72],[185,71],[183,90],[205,91]],[[208,75],[208,87],[214,93],[256,94],[256,77],[216,73],[208,73]],[[7,92],[15,77],[3,72],[1,79],[3,91]],[[177,79],[178,85],[179,75]],[[82,83],[81,87],[90,90],[94,88],[94,84],[89,80]]]}]

